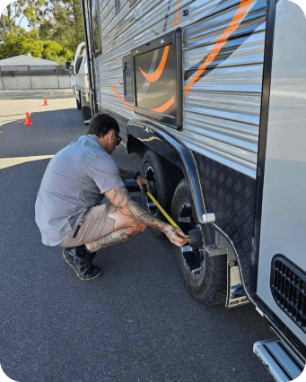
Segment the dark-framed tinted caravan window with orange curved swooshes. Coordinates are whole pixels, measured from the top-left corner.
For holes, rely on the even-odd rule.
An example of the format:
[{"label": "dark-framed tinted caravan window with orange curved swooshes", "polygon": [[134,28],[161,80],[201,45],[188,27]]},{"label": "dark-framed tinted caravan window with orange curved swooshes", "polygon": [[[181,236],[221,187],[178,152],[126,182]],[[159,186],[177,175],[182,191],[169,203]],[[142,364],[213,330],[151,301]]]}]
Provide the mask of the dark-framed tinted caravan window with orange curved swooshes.
[{"label": "dark-framed tinted caravan window with orange curved swooshes", "polygon": [[132,50],[136,113],[176,128],[182,116],[181,47],[177,29]]}]

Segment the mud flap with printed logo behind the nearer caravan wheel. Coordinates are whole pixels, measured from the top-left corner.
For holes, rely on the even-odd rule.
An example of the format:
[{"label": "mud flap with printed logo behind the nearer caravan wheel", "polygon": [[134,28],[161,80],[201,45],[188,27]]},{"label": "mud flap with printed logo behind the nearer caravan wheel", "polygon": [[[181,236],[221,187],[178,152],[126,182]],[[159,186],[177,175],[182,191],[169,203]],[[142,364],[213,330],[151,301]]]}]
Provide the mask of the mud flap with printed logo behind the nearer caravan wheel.
[{"label": "mud flap with printed logo behind the nearer caravan wheel", "polygon": [[240,305],[248,304],[249,300],[245,294],[240,279],[240,272],[237,262],[227,262],[227,295],[226,308],[239,307]]}]

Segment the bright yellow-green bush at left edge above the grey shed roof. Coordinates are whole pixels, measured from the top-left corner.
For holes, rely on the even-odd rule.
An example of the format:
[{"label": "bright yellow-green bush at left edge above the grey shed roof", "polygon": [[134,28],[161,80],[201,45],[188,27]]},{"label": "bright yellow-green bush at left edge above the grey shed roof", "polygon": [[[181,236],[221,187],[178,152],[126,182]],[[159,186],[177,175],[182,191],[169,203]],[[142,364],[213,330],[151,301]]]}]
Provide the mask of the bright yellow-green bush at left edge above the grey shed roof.
[{"label": "bright yellow-green bush at left edge above the grey shed roof", "polygon": [[19,55],[28,55],[41,58],[43,52],[42,41],[31,38],[31,34],[21,31],[16,34],[9,32],[4,38],[4,44],[0,45],[0,59]]}]

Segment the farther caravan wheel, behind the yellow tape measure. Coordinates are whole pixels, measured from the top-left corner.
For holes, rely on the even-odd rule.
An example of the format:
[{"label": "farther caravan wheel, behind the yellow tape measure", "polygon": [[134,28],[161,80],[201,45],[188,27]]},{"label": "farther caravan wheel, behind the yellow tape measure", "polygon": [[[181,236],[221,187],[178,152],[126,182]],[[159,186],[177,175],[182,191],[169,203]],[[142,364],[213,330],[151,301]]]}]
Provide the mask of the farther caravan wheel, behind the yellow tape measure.
[{"label": "farther caravan wheel, behind the yellow tape measure", "polygon": [[[177,185],[170,161],[149,150],[144,154],[141,175],[149,180],[153,197],[162,205],[166,213],[170,213],[172,196]],[[142,193],[142,204],[155,218],[168,222],[149,196],[144,193]],[[160,230],[152,231],[158,237],[165,237]]]}]

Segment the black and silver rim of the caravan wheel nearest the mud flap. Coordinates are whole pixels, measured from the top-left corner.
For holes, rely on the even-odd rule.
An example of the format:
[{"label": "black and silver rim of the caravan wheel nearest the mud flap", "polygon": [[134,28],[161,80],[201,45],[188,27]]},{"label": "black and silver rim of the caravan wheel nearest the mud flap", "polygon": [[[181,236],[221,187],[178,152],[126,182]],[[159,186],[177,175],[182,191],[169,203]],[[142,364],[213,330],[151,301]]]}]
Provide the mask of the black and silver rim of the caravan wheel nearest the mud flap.
[{"label": "black and silver rim of the caravan wheel nearest the mud flap", "polygon": [[[192,216],[191,204],[182,204],[179,208],[179,228],[185,233],[199,228]],[[180,247],[182,263],[190,278],[198,279],[205,272],[205,250],[188,246]]]}]

